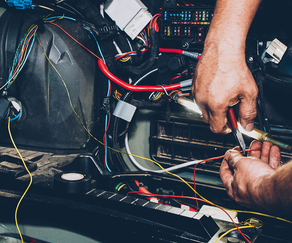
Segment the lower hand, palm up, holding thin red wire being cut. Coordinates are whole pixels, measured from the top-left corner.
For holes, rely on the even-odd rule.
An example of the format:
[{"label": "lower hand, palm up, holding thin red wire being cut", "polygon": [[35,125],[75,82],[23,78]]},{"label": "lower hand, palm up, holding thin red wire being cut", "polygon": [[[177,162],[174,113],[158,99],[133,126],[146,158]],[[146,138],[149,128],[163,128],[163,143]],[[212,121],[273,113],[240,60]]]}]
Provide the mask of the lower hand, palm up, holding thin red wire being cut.
[{"label": "lower hand, palm up, holding thin red wire being cut", "polygon": [[239,147],[228,150],[220,168],[220,177],[228,195],[239,204],[254,207],[259,205],[259,184],[273,175],[280,166],[280,149],[271,142],[250,144],[248,157],[239,153]]}]

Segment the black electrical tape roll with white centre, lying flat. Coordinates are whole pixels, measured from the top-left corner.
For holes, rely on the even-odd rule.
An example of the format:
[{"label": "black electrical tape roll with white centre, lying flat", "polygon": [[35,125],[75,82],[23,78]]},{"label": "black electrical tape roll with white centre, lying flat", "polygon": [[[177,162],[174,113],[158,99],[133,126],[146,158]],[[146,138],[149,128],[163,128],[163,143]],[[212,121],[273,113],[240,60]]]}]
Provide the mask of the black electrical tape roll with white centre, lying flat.
[{"label": "black electrical tape roll with white centre, lying flat", "polygon": [[85,194],[90,191],[91,175],[80,171],[64,171],[54,175],[54,190],[67,194]]}]

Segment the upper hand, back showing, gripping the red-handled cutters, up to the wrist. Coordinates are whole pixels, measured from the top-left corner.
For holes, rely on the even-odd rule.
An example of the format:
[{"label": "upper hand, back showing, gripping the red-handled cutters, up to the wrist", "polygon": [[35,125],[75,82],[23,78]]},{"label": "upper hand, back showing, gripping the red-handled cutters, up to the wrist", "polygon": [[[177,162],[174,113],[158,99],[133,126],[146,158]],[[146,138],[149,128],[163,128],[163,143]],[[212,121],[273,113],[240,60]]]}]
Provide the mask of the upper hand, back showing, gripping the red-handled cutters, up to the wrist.
[{"label": "upper hand, back showing, gripping the red-handled cutters, up to the wrist", "polygon": [[205,44],[193,77],[192,93],[212,132],[230,132],[226,112],[238,102],[239,122],[252,131],[258,88],[246,65],[244,50],[218,46]]}]

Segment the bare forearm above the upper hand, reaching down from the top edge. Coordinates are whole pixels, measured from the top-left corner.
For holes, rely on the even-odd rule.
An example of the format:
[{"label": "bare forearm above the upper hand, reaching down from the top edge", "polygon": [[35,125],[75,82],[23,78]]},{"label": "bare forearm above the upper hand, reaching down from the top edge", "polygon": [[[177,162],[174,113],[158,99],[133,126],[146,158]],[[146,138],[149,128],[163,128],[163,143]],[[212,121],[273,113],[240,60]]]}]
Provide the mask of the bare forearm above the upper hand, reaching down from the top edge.
[{"label": "bare forearm above the upper hand, reaching down from the top edge", "polygon": [[205,46],[225,45],[244,52],[245,39],[261,0],[217,0]]}]

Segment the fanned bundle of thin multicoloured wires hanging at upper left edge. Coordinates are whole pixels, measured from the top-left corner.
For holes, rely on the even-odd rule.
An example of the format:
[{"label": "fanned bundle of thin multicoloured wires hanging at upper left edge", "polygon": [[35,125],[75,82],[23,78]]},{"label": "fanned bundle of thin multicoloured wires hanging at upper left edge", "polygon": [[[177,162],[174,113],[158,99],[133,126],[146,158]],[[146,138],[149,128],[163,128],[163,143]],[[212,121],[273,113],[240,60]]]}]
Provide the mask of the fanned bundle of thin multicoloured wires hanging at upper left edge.
[{"label": "fanned bundle of thin multicoloured wires hanging at upper left edge", "polygon": [[23,38],[20,40],[16,48],[16,53],[13,59],[12,66],[10,66],[9,68],[9,76],[7,78],[6,83],[0,88],[0,90],[4,87],[5,90],[7,90],[10,87],[10,85],[14,82],[19,72],[22,70],[23,66],[25,65],[27,57],[29,56],[34,43],[36,30],[37,25],[33,24],[32,26],[30,26],[30,28],[24,34]]}]

